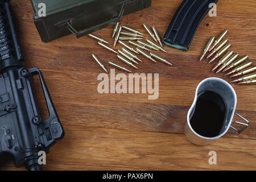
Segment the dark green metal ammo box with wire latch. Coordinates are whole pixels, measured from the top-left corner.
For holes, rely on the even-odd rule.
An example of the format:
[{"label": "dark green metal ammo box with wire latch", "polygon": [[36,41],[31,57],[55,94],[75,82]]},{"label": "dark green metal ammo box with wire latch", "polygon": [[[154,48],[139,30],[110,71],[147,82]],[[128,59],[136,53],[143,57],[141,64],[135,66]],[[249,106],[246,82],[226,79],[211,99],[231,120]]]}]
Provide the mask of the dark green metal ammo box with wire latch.
[{"label": "dark green metal ammo box with wire latch", "polygon": [[[43,42],[74,34],[77,38],[119,22],[151,0],[31,0],[34,23]],[[45,12],[45,14],[43,14]]]}]

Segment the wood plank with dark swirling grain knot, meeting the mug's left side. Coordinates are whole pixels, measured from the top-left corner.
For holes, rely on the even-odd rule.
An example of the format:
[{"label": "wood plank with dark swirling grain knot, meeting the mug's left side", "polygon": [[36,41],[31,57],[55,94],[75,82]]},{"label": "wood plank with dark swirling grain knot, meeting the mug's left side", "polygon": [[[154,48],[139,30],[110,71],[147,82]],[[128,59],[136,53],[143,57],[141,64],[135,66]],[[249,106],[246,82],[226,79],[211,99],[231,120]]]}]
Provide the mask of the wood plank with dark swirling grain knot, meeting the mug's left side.
[{"label": "wood plank with dark swirling grain knot, meeting the mug's left side", "polygon": [[[154,131],[162,133],[184,134],[184,126],[187,122],[189,107],[160,104],[134,104],[132,102],[102,101],[88,106],[56,105],[64,129],[71,126],[101,127],[109,129]],[[238,111],[241,115],[253,121],[254,111]],[[72,119],[69,119],[71,118]],[[236,121],[240,118],[234,117]],[[75,123],[73,121],[76,121]],[[234,127],[241,128],[239,125]],[[226,133],[224,137],[256,139],[255,123],[243,133],[235,135]]]}]

